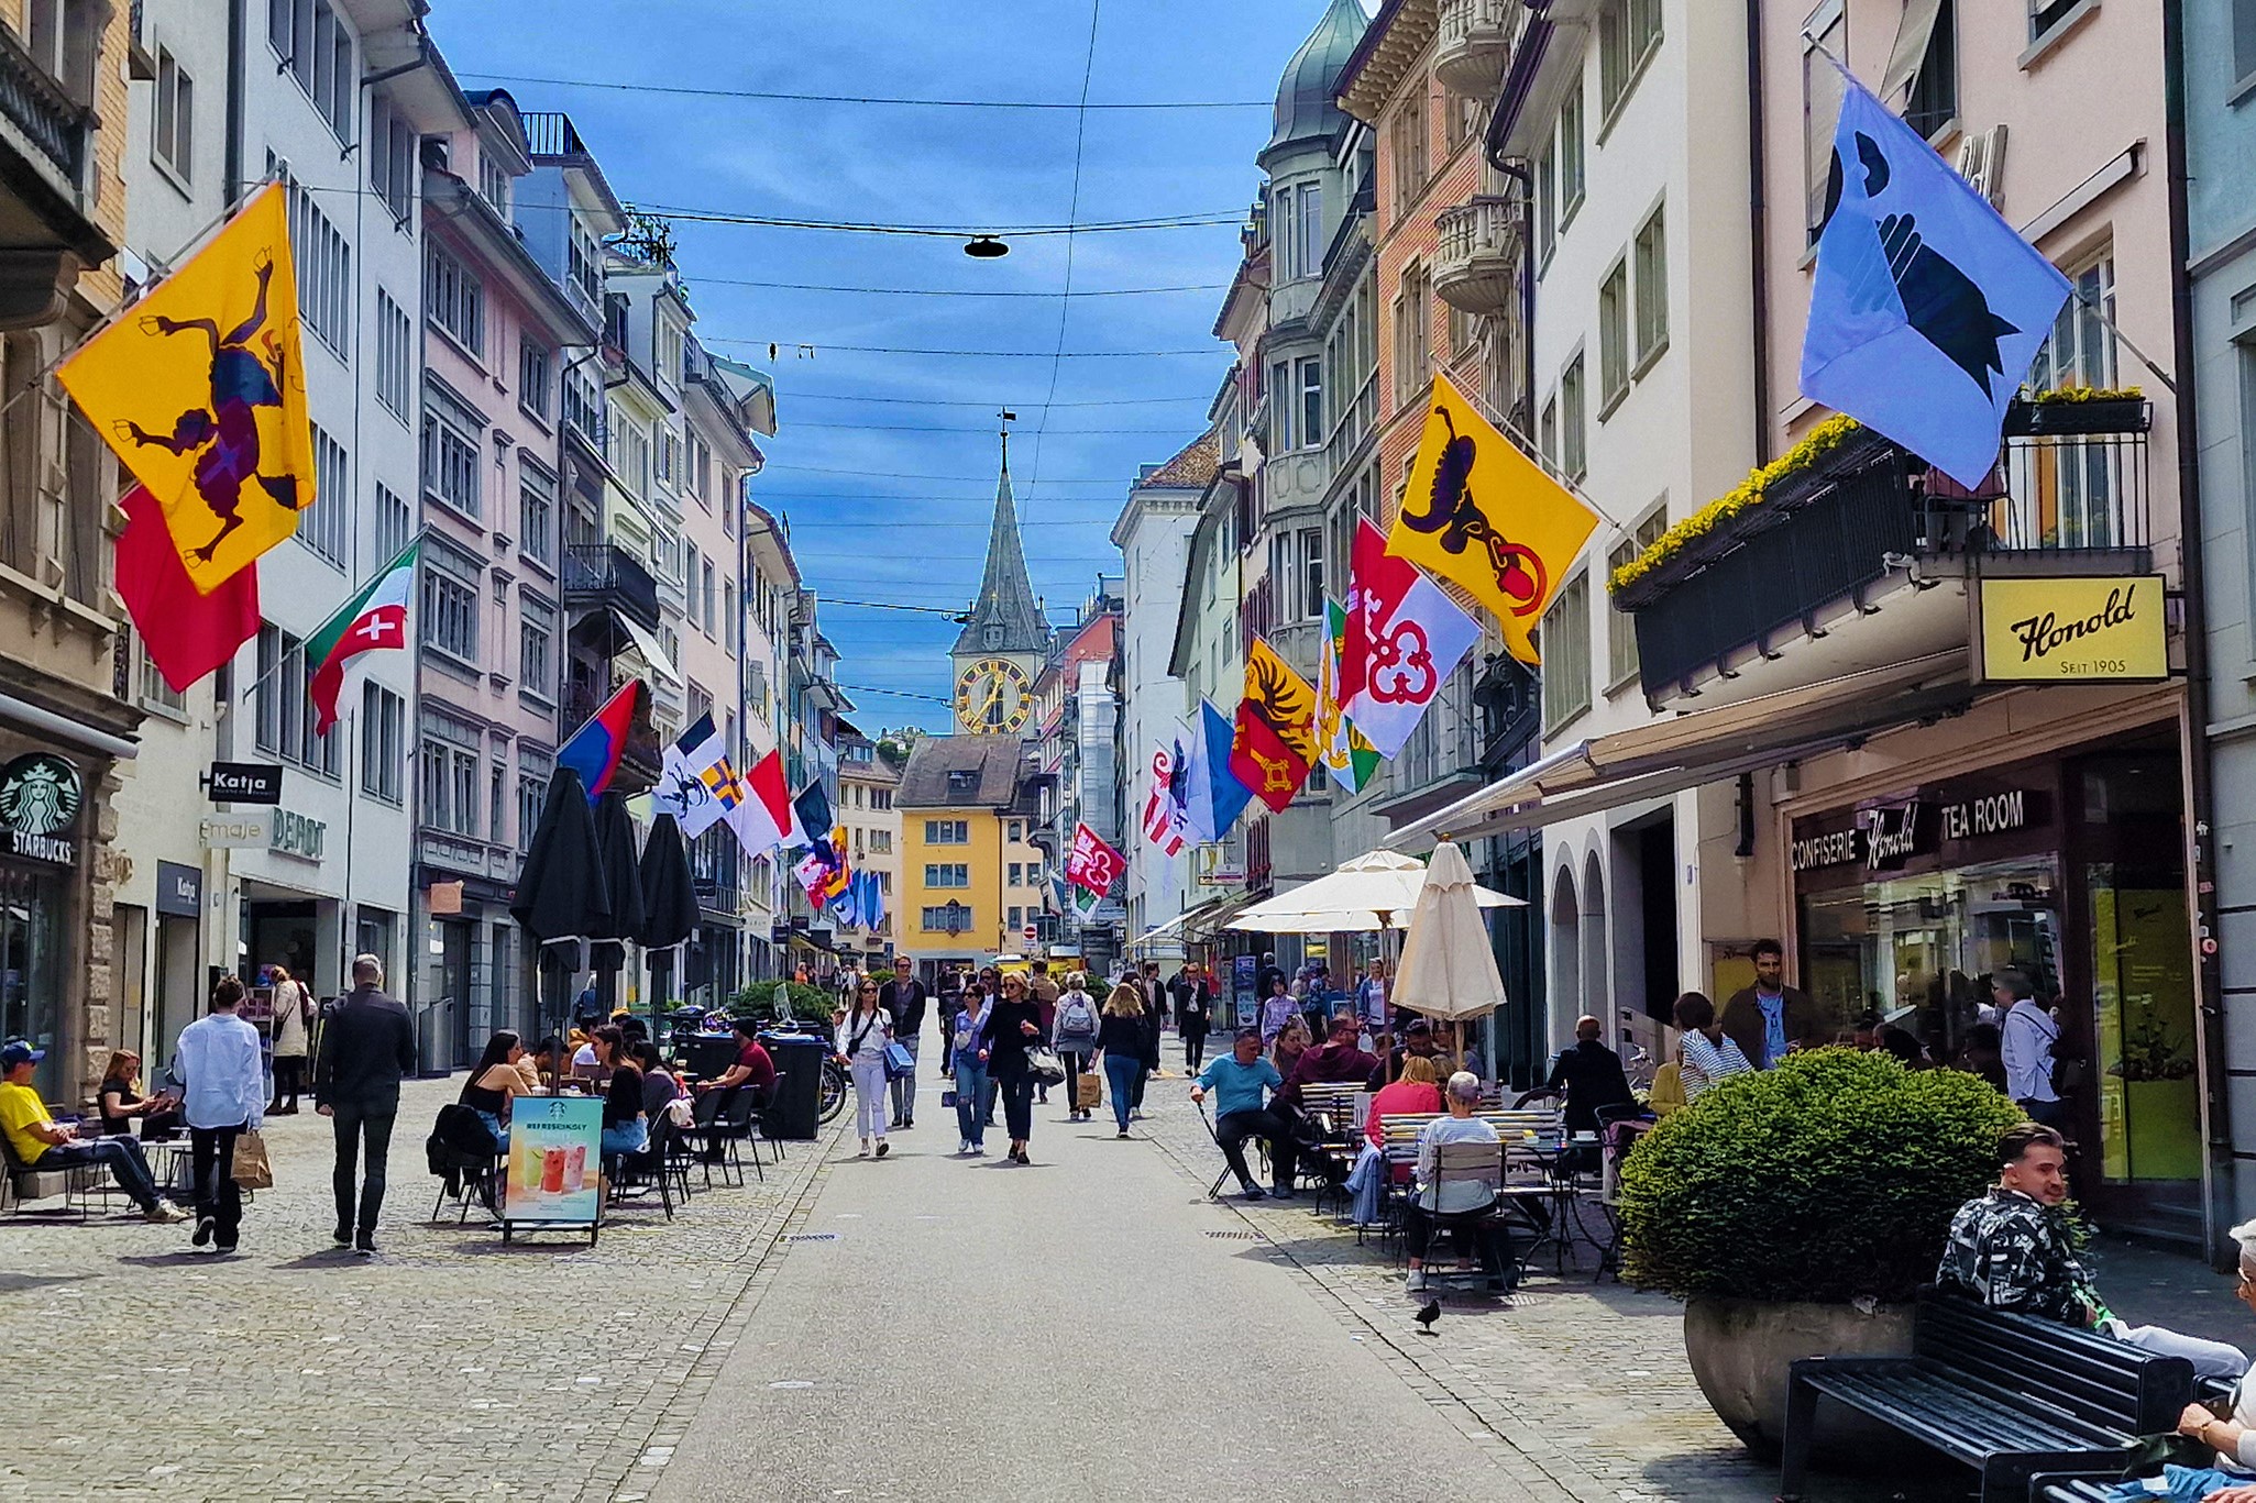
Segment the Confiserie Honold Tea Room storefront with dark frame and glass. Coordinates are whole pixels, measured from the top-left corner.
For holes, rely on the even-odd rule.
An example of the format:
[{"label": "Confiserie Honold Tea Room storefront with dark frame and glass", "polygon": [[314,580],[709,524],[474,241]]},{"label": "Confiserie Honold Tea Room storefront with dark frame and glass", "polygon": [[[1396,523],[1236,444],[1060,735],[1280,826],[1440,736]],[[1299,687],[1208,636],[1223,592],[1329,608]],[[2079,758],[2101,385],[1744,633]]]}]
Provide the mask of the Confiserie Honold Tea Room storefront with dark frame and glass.
[{"label": "Confiserie Honold Tea Room storefront with dark frame and glass", "polygon": [[1800,980],[1974,1064],[2017,969],[2060,1007],[2076,1197],[2100,1224],[2200,1239],[2195,976],[2175,737],[2089,748],[1800,818]]}]

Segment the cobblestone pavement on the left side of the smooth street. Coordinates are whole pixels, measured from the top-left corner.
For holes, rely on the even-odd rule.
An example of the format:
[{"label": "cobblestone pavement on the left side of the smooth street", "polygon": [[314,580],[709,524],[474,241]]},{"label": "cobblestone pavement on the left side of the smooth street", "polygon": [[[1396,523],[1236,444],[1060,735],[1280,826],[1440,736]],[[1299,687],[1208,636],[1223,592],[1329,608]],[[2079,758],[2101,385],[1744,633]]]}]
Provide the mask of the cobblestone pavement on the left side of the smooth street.
[{"label": "cobblestone pavement on the left side of the smooth street", "polygon": [[[668,1224],[636,1201],[512,1246],[426,1224],[422,1142],[460,1079],[411,1082],[379,1257],[332,1248],[329,1122],[273,1118],[241,1255],[187,1226],[0,1221],[0,1498],[609,1498],[711,1381],[819,1145]],[[122,1206],[122,1201],[120,1201]],[[686,1397],[684,1397],[686,1395]]]}]

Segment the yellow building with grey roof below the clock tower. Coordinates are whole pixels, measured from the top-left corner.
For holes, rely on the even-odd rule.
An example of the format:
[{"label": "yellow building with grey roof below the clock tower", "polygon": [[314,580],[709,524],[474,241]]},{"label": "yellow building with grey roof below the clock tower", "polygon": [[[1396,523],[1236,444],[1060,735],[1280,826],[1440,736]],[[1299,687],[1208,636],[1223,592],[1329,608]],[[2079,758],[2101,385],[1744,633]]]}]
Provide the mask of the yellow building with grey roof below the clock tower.
[{"label": "yellow building with grey roof below the clock tower", "polygon": [[1029,897],[1040,904],[1040,895],[1006,881],[1008,863],[1024,872],[1040,861],[1024,838],[1033,820],[1024,755],[1017,737],[927,737],[900,773],[893,944],[927,980],[943,962],[986,964],[1024,949],[1024,933],[1008,928],[1011,906],[1024,919]]}]

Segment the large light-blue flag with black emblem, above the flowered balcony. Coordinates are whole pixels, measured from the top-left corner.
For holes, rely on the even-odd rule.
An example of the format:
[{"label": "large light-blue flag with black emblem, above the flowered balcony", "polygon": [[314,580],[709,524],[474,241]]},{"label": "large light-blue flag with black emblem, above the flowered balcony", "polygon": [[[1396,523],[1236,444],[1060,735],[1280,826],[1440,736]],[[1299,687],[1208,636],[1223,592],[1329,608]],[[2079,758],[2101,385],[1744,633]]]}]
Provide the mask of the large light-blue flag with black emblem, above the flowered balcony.
[{"label": "large light-blue flag with black emblem, above the flowered balcony", "polygon": [[1854,79],[1825,207],[1803,397],[1979,487],[2069,279]]}]

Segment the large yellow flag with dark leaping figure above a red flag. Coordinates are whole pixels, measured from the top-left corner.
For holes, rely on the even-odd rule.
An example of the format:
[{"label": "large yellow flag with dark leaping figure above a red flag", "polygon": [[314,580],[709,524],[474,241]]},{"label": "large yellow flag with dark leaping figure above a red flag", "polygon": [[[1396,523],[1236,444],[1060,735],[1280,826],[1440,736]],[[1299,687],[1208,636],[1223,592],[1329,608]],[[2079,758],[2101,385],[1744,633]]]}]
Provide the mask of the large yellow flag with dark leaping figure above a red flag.
[{"label": "large yellow flag with dark leaping figure above a red flag", "polygon": [[314,505],[287,205],[280,183],[264,187],[54,372],[156,496],[205,595]]}]

